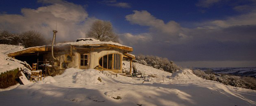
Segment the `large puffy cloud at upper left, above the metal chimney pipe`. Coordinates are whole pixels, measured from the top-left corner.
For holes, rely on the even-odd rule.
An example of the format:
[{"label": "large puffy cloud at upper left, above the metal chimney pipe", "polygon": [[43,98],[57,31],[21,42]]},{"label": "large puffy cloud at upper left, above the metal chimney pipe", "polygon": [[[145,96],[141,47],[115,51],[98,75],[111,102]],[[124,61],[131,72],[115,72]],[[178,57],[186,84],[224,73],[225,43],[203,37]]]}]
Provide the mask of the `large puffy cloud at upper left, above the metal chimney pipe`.
[{"label": "large puffy cloud at upper left, above the metal chimney pipe", "polygon": [[22,15],[0,14],[0,29],[12,32],[36,30],[51,38],[58,22],[57,40],[74,40],[85,36],[94,22],[81,5],[62,0],[39,0],[47,6],[37,9],[23,8]]}]

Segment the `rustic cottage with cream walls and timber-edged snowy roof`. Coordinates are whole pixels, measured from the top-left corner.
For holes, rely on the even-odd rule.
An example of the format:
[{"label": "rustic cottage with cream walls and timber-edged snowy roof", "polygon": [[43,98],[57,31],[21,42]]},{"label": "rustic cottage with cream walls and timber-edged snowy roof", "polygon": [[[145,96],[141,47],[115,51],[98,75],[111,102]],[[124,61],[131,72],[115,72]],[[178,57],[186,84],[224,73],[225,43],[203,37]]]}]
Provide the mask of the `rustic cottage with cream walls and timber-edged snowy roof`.
[{"label": "rustic cottage with cream walls and timber-edged snowy roof", "polygon": [[[85,39],[87,40],[87,39]],[[101,41],[77,41],[69,43],[57,43],[53,47],[53,55],[57,60],[53,60],[51,57],[51,46],[37,46],[32,48],[26,48],[21,51],[16,51],[7,54],[9,57],[19,57],[24,55],[34,55],[34,57],[41,56],[41,60],[35,59],[37,61],[48,60],[51,61],[56,70],[64,70],[68,67],[80,68],[80,69],[97,69],[97,70],[110,70],[116,73],[122,72],[122,60],[123,58],[128,58],[130,60],[130,74],[132,67],[132,60],[135,59],[134,55],[129,54],[132,52],[133,48],[128,46],[123,46],[118,43],[112,42],[101,42]],[[87,58],[81,58],[80,55],[87,54]],[[110,57],[109,54],[112,54]],[[107,67],[100,65],[100,58],[107,55]],[[114,58],[116,55],[116,58]],[[112,61],[110,62],[109,60]],[[82,60],[81,60],[82,59]],[[83,61],[83,63],[81,63]],[[104,60],[103,60],[104,61]],[[103,62],[102,61],[102,62]],[[85,64],[85,62],[87,62]],[[109,63],[110,62],[110,63]],[[82,65],[83,64],[83,65]],[[111,68],[109,68],[111,64]],[[82,65],[82,66],[81,66]],[[86,67],[84,67],[87,65]]]}]

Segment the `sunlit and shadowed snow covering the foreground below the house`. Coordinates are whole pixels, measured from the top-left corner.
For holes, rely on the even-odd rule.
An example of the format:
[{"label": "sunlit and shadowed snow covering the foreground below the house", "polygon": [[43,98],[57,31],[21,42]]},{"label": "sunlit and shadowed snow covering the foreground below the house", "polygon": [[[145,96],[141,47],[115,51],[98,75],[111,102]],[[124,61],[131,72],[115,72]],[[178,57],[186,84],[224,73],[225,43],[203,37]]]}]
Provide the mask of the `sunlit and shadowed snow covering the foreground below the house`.
[{"label": "sunlit and shadowed snow covering the foreground below the house", "polygon": [[2,89],[0,103],[1,106],[256,106],[256,91],[204,80],[191,70],[171,74],[145,65],[138,65],[138,70],[145,76],[158,77],[116,77],[107,71],[70,68],[43,81]]}]

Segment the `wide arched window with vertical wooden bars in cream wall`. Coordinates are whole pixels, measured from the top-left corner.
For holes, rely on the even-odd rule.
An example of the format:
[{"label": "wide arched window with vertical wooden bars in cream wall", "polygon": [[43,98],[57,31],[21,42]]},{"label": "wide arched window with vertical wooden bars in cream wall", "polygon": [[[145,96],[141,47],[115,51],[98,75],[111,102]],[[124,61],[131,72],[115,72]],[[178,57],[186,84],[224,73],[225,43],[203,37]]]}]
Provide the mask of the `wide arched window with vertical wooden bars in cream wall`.
[{"label": "wide arched window with vertical wooden bars in cream wall", "polygon": [[100,67],[110,70],[120,70],[121,69],[121,55],[120,54],[108,54],[104,55],[99,59]]}]

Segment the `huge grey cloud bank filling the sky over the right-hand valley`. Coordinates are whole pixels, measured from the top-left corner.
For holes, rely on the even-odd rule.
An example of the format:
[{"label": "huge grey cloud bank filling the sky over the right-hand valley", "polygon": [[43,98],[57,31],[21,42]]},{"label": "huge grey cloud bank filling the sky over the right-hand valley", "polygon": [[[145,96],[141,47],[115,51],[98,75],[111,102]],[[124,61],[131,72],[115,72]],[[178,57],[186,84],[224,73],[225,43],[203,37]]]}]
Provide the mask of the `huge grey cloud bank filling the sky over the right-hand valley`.
[{"label": "huge grey cloud bank filling the sky over the right-hand valley", "polygon": [[[256,61],[254,12],[201,22],[196,28],[184,28],[175,21],[164,23],[147,11],[133,12],[126,20],[148,27],[147,34],[152,36],[150,42],[135,40],[140,42],[133,46],[135,54],[159,55],[174,61]],[[127,39],[123,37],[123,42],[131,45],[129,41],[135,36]]]}]

